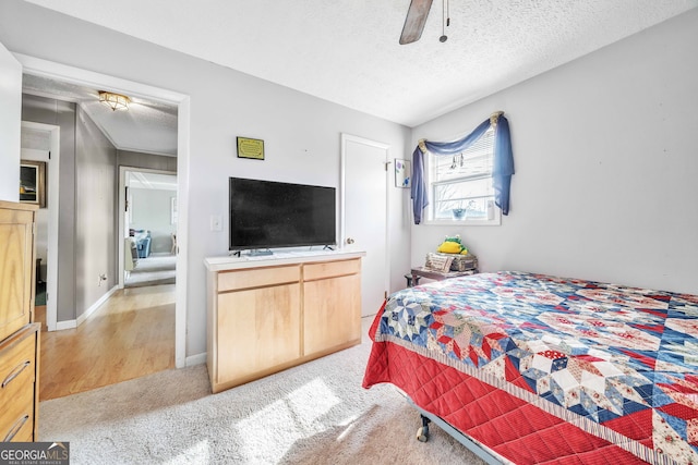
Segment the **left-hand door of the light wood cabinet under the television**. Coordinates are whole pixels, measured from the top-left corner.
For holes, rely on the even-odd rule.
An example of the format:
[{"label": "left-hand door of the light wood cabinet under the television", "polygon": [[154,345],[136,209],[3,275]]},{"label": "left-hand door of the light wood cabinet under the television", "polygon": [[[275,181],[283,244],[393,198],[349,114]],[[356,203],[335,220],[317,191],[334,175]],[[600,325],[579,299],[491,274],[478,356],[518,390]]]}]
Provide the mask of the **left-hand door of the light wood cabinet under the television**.
[{"label": "left-hand door of the light wood cabinet under the television", "polygon": [[217,382],[245,382],[300,356],[300,284],[218,295]]}]

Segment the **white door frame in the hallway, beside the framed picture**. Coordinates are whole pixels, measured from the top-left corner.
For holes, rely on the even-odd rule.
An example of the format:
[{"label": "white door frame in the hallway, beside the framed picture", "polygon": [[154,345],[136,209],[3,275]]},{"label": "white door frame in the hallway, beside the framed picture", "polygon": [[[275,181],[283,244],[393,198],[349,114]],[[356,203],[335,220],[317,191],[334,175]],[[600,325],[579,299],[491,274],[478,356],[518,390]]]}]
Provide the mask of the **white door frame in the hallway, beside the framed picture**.
[{"label": "white door frame in the hallway, beside the framed picture", "polygon": [[[49,133],[50,148],[47,163],[46,192],[48,208],[47,262],[46,262],[46,326],[56,331],[58,326],[58,196],[60,194],[60,126],[22,121],[22,129]],[[24,147],[22,147],[24,149]]]}]

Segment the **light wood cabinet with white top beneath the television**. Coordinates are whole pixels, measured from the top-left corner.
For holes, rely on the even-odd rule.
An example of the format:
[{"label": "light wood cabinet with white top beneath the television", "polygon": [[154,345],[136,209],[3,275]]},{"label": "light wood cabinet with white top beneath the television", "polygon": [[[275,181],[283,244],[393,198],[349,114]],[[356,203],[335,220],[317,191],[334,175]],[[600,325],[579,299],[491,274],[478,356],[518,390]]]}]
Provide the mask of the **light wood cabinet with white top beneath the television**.
[{"label": "light wood cabinet with white top beneath the television", "polygon": [[362,255],[207,259],[213,392],[359,344]]}]

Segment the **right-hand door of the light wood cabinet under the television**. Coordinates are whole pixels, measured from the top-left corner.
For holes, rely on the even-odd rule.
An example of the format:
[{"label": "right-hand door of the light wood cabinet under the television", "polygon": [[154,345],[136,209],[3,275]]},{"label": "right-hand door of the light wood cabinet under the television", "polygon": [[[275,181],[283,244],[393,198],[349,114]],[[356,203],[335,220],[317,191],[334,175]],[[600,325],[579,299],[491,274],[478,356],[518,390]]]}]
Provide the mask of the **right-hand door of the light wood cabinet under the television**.
[{"label": "right-hand door of the light wood cabinet under the television", "polygon": [[303,355],[361,341],[361,276],[303,284]]}]

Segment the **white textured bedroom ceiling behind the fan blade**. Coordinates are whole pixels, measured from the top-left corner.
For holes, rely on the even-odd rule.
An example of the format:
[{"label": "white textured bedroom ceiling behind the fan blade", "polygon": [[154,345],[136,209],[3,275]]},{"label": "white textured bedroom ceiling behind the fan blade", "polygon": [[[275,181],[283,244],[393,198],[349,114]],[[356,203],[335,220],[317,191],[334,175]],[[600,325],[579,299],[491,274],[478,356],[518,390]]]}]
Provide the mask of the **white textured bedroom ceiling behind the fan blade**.
[{"label": "white textured bedroom ceiling behind the fan blade", "polygon": [[400,46],[410,0],[27,0],[416,126],[698,7],[698,0],[435,0]]}]

